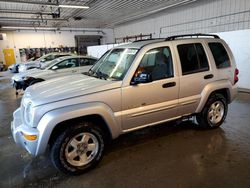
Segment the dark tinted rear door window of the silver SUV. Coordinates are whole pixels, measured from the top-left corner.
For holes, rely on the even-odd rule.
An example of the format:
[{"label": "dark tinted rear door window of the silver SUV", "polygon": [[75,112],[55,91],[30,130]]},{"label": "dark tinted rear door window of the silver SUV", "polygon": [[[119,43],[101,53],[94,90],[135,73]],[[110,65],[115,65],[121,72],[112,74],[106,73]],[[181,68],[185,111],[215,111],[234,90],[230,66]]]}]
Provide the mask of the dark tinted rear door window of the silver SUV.
[{"label": "dark tinted rear door window of the silver SUV", "polygon": [[209,65],[202,44],[178,45],[182,75],[208,71]]}]

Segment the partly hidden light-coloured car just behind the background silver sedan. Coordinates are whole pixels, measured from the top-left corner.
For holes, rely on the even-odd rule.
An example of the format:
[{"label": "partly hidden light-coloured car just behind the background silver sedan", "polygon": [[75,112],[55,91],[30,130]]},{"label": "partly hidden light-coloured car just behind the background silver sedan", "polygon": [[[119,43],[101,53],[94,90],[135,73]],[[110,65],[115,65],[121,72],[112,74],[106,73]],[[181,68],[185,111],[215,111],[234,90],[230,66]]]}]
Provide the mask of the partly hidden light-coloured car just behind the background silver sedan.
[{"label": "partly hidden light-coloured car just behind the background silver sedan", "polygon": [[25,72],[27,70],[30,69],[34,69],[34,68],[40,68],[42,67],[44,64],[58,58],[58,57],[63,57],[63,56],[75,56],[75,54],[72,53],[60,53],[60,52],[53,52],[53,53],[49,53],[46,54],[34,61],[30,61],[27,63],[20,63],[19,65],[19,72]]}]

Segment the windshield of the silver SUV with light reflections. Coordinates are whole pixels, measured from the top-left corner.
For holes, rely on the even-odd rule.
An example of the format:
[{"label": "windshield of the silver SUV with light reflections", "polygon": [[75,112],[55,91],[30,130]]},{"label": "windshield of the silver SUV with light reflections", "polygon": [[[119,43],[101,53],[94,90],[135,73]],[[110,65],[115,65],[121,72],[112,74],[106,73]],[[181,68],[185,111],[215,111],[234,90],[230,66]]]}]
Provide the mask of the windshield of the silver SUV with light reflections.
[{"label": "windshield of the silver SUV with light reflections", "polygon": [[132,64],[137,49],[113,49],[103,55],[88,75],[101,79],[122,80]]}]

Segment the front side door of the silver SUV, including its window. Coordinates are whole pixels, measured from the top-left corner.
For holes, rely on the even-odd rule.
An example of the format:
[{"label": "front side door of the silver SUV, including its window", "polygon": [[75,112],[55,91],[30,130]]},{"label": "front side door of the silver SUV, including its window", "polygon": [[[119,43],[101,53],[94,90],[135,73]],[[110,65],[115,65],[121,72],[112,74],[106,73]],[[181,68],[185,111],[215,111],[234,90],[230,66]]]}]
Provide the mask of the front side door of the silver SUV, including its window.
[{"label": "front side door of the silver SUV, including its window", "polygon": [[147,51],[134,77],[151,76],[148,83],[122,88],[122,127],[133,130],[164,122],[176,116],[179,78],[175,76],[170,47]]}]

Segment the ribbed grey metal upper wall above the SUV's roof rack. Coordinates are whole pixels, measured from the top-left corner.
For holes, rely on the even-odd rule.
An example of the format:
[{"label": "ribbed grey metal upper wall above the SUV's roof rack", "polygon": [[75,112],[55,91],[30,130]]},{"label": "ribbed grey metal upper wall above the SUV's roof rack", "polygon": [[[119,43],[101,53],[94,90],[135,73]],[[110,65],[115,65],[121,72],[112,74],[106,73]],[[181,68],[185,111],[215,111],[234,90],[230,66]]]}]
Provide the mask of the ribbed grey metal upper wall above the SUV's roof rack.
[{"label": "ribbed grey metal upper wall above the SUV's roof rack", "polygon": [[115,37],[149,34],[153,37],[186,33],[218,33],[250,29],[250,0],[200,0],[130,22],[114,29]]}]

